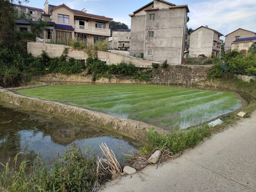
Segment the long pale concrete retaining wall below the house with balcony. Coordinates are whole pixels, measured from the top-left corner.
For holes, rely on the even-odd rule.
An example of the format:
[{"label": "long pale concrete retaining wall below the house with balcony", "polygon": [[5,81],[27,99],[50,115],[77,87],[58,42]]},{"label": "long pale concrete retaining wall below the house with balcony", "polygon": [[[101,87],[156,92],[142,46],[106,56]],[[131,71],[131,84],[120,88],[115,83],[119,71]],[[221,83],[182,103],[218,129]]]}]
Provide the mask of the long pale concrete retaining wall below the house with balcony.
[{"label": "long pale concrete retaining wall below the house with balcony", "polygon": [[[33,56],[37,57],[42,54],[42,51],[45,51],[50,58],[60,57],[65,48],[68,48],[68,57],[75,59],[84,59],[88,58],[88,55],[84,51],[78,51],[73,49],[73,47],[66,45],[55,45],[47,43],[31,43],[28,42],[28,53],[31,53]],[[146,61],[142,59],[137,59],[133,57],[126,57],[124,55],[118,55],[110,52],[98,51],[98,58],[102,61],[106,61],[108,65],[118,64],[121,62],[133,63],[133,65],[140,68],[152,68],[152,61]]]}]

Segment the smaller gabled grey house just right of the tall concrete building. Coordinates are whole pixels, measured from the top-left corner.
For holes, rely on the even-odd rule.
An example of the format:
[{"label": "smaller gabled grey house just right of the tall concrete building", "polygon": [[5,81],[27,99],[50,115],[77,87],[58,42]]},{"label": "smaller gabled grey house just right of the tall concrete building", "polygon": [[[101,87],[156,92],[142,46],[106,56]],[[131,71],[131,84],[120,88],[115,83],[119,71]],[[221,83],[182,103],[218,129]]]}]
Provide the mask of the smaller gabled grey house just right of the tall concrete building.
[{"label": "smaller gabled grey house just right of the tall concrete building", "polygon": [[190,34],[189,57],[199,57],[199,55],[218,57],[221,52],[221,36],[223,35],[217,30],[204,26],[193,30]]}]

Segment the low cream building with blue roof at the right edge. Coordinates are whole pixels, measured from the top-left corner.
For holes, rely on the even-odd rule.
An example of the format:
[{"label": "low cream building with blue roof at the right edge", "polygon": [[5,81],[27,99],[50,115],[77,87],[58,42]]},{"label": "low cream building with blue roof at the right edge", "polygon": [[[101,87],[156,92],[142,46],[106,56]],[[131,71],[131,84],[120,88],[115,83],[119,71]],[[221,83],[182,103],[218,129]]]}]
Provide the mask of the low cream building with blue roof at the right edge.
[{"label": "low cream building with blue roof at the right edge", "polygon": [[246,54],[252,44],[256,44],[256,37],[239,38],[231,43],[231,50],[237,49]]}]

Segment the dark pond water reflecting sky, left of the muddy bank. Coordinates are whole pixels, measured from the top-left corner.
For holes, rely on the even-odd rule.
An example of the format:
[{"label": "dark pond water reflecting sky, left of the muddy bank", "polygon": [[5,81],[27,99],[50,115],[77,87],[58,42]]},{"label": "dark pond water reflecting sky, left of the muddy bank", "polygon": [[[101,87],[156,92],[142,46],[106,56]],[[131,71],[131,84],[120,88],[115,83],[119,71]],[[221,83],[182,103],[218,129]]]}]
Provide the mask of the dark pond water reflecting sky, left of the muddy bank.
[{"label": "dark pond water reflecting sky, left of the muddy bank", "polygon": [[[0,101],[0,162],[4,165],[11,158],[11,167],[13,158],[20,152],[25,154],[18,156],[17,165],[25,158],[33,164],[39,152],[43,161],[52,160],[58,153],[63,156],[74,142],[81,148],[89,146],[98,155],[99,145],[106,142],[120,162],[138,148],[138,143],[130,138]],[[0,165],[0,171],[2,168]]]}]

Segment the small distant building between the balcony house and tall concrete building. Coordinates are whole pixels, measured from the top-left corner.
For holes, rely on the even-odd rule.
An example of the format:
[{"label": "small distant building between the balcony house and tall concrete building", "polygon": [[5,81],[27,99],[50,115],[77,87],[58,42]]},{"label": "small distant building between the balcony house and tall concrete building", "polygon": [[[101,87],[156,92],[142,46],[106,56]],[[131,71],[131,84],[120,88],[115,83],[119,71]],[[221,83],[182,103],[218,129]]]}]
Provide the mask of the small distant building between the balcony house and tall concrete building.
[{"label": "small distant building between the balcony house and tall concrete building", "polygon": [[130,50],[131,29],[112,30],[112,38],[109,48],[113,50]]}]

